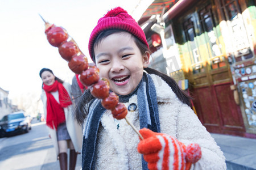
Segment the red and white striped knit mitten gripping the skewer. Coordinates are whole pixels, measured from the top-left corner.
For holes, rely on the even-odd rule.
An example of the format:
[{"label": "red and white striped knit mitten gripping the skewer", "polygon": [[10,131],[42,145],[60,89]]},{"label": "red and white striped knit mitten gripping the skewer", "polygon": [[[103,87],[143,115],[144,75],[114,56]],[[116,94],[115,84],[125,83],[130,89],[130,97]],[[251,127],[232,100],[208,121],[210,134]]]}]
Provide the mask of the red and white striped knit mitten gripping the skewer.
[{"label": "red and white striped knit mitten gripping the skewer", "polygon": [[144,139],[139,142],[137,149],[143,154],[150,170],[187,170],[201,158],[201,148],[196,143],[186,147],[170,135],[146,128],[139,130],[139,133]]}]

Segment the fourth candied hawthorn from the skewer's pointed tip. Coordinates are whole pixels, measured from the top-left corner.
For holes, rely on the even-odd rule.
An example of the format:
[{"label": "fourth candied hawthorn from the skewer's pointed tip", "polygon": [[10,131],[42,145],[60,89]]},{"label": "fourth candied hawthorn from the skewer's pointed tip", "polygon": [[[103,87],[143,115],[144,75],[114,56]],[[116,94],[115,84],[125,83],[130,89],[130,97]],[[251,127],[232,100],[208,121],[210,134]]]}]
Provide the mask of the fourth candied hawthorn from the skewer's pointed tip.
[{"label": "fourth candied hawthorn from the skewer's pointed tip", "polygon": [[91,86],[92,84],[97,83],[98,79],[100,79],[98,73],[99,70],[97,67],[89,67],[80,74],[80,82],[85,86]]}]

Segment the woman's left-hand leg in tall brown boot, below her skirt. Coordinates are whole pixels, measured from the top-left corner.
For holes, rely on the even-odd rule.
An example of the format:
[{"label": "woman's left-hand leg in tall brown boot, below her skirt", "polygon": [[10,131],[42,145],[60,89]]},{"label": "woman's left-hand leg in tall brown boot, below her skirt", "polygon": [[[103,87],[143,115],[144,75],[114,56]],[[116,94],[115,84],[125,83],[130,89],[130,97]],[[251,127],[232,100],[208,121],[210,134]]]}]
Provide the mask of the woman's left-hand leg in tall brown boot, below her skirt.
[{"label": "woman's left-hand leg in tall brown boot, below her skirt", "polygon": [[59,158],[60,158],[60,169],[67,170],[68,169],[68,143],[67,141],[58,141],[59,146]]}]

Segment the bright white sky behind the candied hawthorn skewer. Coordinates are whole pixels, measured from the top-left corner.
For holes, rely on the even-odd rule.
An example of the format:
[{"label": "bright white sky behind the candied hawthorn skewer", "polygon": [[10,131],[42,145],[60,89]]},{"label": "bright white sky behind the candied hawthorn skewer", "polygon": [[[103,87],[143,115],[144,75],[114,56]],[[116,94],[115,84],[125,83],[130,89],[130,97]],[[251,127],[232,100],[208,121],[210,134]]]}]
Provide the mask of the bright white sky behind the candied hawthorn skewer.
[{"label": "bright white sky behind the candied hawthorn skewer", "polygon": [[[147,2],[146,2],[147,1]],[[13,99],[27,93],[41,94],[39,71],[47,67],[71,83],[74,73],[44,33],[44,20],[63,27],[92,62],[88,53],[90,33],[111,8],[121,6],[135,20],[150,0],[0,0],[0,87]],[[138,3],[141,10],[134,11]],[[138,8],[137,8],[138,9]]]}]

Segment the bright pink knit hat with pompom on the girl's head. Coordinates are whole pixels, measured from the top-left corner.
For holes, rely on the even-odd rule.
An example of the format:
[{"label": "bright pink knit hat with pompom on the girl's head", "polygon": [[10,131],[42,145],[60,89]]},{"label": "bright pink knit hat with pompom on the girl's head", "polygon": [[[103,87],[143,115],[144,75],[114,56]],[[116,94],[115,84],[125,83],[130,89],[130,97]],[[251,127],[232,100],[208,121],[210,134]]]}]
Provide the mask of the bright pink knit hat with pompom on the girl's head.
[{"label": "bright pink knit hat with pompom on the girl's head", "polygon": [[143,44],[147,44],[147,39],[143,29],[139,27],[139,24],[121,7],[115,7],[112,10],[108,11],[102,18],[98,20],[96,27],[93,29],[90,34],[89,39],[89,54],[92,58],[92,49],[95,39],[102,31],[108,29],[121,29],[127,31],[137,37]]}]

